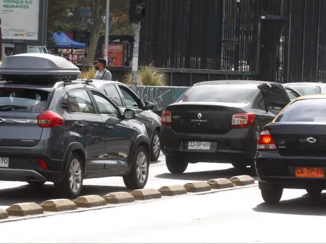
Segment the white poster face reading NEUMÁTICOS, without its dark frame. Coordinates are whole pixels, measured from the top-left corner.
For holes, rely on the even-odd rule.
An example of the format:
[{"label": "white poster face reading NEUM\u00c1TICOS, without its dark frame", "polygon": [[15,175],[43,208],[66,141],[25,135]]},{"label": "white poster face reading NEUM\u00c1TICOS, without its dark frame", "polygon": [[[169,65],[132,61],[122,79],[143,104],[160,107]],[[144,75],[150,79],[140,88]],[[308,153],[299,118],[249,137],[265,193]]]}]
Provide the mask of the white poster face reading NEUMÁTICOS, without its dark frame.
[{"label": "white poster face reading NEUM\u00c1TICOS, without its dark frame", "polygon": [[3,40],[39,39],[40,0],[0,0]]}]

